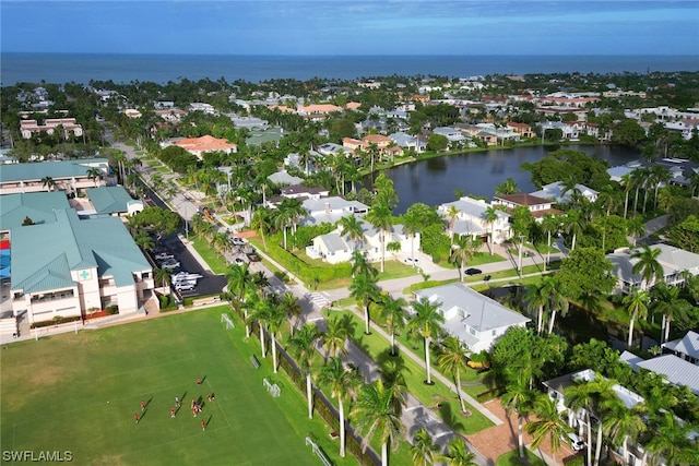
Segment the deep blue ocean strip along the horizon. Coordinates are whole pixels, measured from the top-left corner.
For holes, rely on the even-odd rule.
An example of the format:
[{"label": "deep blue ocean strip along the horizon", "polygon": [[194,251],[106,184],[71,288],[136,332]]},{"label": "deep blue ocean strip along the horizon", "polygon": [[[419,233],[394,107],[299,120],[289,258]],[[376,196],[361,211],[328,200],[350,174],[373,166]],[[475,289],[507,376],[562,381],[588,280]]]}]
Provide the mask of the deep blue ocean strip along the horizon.
[{"label": "deep blue ocean strip along the horizon", "polygon": [[699,71],[699,56],[212,56],[15,53],[0,56],[2,86],[20,82],[87,84],[271,79],[355,80],[389,75],[469,77],[528,73]]}]

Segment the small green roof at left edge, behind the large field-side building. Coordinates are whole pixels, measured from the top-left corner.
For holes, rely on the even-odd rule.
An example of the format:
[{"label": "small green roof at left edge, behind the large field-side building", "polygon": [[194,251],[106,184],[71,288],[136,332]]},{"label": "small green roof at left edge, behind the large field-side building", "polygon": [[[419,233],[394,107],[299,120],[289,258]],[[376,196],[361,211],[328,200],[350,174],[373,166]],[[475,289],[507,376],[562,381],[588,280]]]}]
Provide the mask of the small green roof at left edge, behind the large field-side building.
[{"label": "small green roof at left edge, behind the large field-side building", "polygon": [[52,224],[54,211],[63,208],[70,208],[70,204],[62,191],[1,195],[0,230],[21,226],[26,217],[35,224]]}]

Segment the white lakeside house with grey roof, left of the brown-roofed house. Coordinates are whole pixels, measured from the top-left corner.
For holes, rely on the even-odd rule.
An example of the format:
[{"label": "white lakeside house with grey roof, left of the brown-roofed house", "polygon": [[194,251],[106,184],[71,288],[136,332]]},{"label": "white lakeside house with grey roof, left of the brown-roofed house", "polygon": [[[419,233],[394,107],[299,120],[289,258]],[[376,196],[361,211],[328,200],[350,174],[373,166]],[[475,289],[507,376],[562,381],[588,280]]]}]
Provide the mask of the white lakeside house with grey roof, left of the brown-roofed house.
[{"label": "white lakeside house with grey roof, left of the brown-roofed house", "polygon": [[[455,207],[458,215],[450,217],[451,207]],[[487,241],[487,237],[493,232],[493,242],[500,244],[512,236],[510,228],[510,214],[501,210],[496,210],[497,219],[490,225],[485,219],[486,211],[491,205],[483,200],[464,196],[454,202],[447,202],[437,207],[437,213],[448,222],[451,235],[469,235],[474,238],[479,237]]]}]

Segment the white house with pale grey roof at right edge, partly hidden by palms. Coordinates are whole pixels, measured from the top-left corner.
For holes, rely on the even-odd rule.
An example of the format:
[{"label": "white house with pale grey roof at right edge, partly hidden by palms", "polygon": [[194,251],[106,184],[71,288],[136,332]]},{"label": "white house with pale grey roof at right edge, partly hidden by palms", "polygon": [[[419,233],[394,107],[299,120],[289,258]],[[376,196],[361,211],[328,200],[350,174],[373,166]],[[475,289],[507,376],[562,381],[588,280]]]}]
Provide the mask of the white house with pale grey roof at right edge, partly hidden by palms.
[{"label": "white house with pale grey roof at right edge, partly hidden by palms", "polygon": [[[650,248],[661,250],[656,261],[663,267],[663,282],[667,285],[677,286],[685,283],[685,272],[699,275],[699,254],[664,243]],[[632,289],[644,290],[655,285],[651,283],[649,286],[640,273],[633,273],[633,266],[638,263],[638,259],[631,258],[635,251],[624,248],[606,255],[613,265],[612,273],[617,277],[616,291],[625,295],[630,294]]]}]

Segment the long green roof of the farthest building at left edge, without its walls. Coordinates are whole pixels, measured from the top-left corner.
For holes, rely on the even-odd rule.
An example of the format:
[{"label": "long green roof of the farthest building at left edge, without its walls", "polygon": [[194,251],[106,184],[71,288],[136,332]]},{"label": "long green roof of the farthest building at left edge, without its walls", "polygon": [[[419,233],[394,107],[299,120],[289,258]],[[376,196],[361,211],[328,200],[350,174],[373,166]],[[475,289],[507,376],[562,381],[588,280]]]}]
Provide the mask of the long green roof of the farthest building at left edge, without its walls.
[{"label": "long green roof of the farthest building at left edge, without its walls", "polygon": [[27,164],[5,164],[0,167],[0,182],[39,181],[44,177],[54,180],[84,177],[91,166],[109,167],[106,158],[75,158],[59,162],[34,162]]}]

